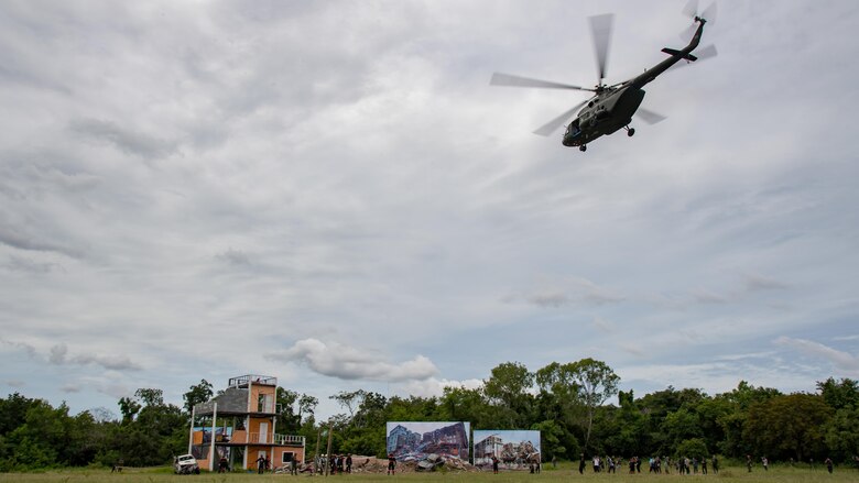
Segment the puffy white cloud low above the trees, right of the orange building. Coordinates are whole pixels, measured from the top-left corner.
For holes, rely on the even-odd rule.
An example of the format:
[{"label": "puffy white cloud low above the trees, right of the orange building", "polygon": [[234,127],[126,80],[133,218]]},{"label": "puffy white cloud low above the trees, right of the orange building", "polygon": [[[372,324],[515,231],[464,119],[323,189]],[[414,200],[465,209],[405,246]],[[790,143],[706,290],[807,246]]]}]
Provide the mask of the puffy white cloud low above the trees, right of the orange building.
[{"label": "puffy white cloud low above the trees, right of the orange building", "polygon": [[344,380],[400,382],[427,380],[438,374],[438,367],[423,356],[410,361],[390,363],[379,353],[317,339],[304,339],[291,348],[270,352],[265,358],[274,361],[297,362],[314,372]]}]

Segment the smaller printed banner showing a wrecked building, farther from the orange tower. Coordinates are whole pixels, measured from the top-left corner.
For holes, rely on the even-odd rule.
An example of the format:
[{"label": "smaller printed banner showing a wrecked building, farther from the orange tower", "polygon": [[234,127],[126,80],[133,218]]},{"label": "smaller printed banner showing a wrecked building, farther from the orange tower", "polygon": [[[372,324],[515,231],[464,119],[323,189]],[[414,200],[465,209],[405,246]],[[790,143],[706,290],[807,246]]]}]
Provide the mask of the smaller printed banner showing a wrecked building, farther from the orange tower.
[{"label": "smaller printed banner showing a wrecked building, farther from the orange tower", "polygon": [[540,463],[540,431],[475,430],[475,466],[490,469],[492,458],[505,470]]}]

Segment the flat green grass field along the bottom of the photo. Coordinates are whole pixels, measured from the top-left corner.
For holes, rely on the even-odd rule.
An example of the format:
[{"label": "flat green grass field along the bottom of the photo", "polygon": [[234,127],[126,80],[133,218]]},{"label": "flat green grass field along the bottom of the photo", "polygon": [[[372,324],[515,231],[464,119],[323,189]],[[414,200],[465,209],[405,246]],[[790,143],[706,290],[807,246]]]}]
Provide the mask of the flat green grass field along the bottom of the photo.
[{"label": "flat green grass field along the bottom of the photo", "polygon": [[[548,466],[548,465],[547,465]],[[581,482],[581,483],[628,483],[628,482],[650,482],[657,483],[661,481],[699,481],[705,482],[707,480],[714,480],[719,483],[727,482],[742,482],[742,483],[765,483],[765,482],[784,482],[784,483],[815,483],[815,482],[857,482],[859,481],[859,471],[849,468],[836,468],[833,474],[826,472],[826,469],[820,466],[816,470],[797,469],[797,468],[771,468],[770,471],[764,472],[760,466],[755,468],[752,473],[748,473],[744,468],[726,468],[716,474],[692,474],[688,476],[681,476],[672,472],[672,474],[594,474],[585,473],[584,475],[573,471],[573,466],[569,464],[558,465],[557,470],[546,469],[541,474],[530,473],[454,473],[454,472],[437,472],[437,473],[404,473],[396,474],[395,476],[388,476],[384,474],[350,474],[350,475],[333,475],[333,476],[290,476],[287,474],[247,474],[247,473],[230,473],[230,474],[215,474],[203,473],[199,475],[177,476],[170,473],[168,469],[126,469],[121,474],[111,474],[110,470],[68,470],[68,471],[53,471],[45,473],[0,473],[0,483],[78,483],[78,482],[121,482],[121,483],[161,483],[161,482],[198,482],[198,483],[224,483],[224,482],[271,482],[271,481],[333,481],[333,482],[392,482],[402,481],[407,483],[466,483],[466,482],[492,482],[492,483],[511,483],[511,482]]]}]

